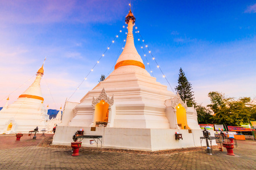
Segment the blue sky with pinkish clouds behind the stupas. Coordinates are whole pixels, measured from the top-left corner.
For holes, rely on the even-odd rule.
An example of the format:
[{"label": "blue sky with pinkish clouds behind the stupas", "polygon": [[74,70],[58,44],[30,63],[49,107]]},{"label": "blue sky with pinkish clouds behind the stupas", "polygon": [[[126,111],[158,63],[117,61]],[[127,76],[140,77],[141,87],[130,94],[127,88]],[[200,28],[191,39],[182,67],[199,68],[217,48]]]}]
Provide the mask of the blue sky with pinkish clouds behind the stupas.
[{"label": "blue sky with pinkish clouds behind the stupas", "polygon": [[[10,103],[30,86],[46,56],[41,83],[45,104],[53,109],[64,105],[125,25],[129,2],[0,1],[0,106],[16,88]],[[135,33],[139,30],[172,88],[182,67],[197,103],[209,104],[210,91],[256,96],[256,1],[131,3],[138,53],[146,65]],[[70,101],[79,101],[101,74],[111,71],[125,32],[123,28]],[[143,49],[158,82],[168,86]],[[147,65],[146,69],[150,72]]]}]

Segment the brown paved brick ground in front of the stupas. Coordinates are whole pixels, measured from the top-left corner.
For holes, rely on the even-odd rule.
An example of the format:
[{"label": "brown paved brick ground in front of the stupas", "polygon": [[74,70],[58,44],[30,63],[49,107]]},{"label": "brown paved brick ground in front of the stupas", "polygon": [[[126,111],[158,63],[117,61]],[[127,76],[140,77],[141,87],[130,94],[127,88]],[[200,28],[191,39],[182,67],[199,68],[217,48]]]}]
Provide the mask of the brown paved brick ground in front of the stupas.
[{"label": "brown paved brick ground in front of the stupas", "polygon": [[15,142],[15,135],[0,135],[0,169],[256,169],[256,141],[238,141],[236,156],[226,155],[225,148],[214,149],[213,155],[199,150],[159,155],[81,148],[80,156],[71,156],[71,147],[40,147],[42,138],[33,141],[26,134]]}]

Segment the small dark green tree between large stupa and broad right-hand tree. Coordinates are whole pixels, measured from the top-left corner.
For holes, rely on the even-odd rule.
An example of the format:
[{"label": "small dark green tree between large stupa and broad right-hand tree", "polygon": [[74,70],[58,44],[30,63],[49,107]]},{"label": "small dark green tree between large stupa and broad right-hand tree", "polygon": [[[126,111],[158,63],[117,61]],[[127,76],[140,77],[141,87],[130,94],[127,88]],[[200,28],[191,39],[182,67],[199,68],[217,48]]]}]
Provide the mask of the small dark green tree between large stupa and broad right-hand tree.
[{"label": "small dark green tree between large stupa and broad right-hand tree", "polygon": [[202,106],[201,104],[196,105],[197,121],[199,124],[212,124],[213,115],[210,109]]}]

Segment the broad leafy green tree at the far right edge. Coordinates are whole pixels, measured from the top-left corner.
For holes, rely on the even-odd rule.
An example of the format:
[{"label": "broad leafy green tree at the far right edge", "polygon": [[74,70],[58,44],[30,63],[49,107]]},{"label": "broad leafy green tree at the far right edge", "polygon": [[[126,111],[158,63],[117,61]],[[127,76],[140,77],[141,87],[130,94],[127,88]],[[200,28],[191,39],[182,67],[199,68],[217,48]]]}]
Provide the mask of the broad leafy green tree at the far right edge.
[{"label": "broad leafy green tree at the far right edge", "polygon": [[255,105],[250,104],[250,97],[241,97],[235,100],[225,97],[220,92],[209,92],[211,104],[208,105],[214,112],[214,123],[225,125],[249,124],[255,120]]}]

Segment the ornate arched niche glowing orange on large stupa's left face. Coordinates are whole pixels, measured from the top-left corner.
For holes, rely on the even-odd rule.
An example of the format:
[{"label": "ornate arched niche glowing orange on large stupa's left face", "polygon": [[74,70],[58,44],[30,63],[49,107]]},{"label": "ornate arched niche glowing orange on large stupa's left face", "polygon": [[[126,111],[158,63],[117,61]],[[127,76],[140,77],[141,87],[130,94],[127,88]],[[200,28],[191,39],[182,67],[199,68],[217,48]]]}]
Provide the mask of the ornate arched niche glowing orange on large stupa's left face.
[{"label": "ornate arched niche glowing orange on large stupa's left face", "polygon": [[95,99],[93,96],[93,119],[90,126],[107,126],[110,127],[112,112],[111,106],[114,104],[114,95],[110,98],[103,88],[101,94]]}]

